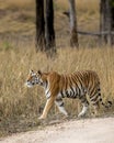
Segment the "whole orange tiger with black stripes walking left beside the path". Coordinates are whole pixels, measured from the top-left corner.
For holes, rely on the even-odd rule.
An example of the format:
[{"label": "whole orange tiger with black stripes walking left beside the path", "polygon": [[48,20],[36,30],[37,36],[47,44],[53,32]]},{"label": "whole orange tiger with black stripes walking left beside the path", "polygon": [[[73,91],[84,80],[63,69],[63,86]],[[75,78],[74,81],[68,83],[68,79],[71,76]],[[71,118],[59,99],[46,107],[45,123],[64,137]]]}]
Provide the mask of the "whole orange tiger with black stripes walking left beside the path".
[{"label": "whole orange tiger with black stripes walking left beside the path", "polygon": [[[68,117],[62,98],[79,99],[81,101],[82,110],[78,114],[79,118],[88,112],[89,102],[93,106],[95,116],[100,109],[100,103],[105,108],[112,106],[112,101],[103,102],[100,78],[96,72],[93,70],[81,70],[66,75],[57,72],[30,70],[25,85],[27,87],[39,85],[44,88],[47,101],[38,119],[46,119],[54,103],[65,117]],[[90,101],[88,101],[87,95]]]}]

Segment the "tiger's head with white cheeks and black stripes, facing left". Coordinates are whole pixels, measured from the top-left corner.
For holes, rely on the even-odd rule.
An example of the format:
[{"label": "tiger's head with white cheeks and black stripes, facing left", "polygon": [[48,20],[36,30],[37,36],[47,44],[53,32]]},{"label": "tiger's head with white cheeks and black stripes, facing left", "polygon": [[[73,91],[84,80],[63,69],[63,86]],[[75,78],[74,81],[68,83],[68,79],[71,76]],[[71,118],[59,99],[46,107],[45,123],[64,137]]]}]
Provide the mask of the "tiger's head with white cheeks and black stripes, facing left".
[{"label": "tiger's head with white cheeks and black stripes, facing left", "polygon": [[33,87],[34,85],[43,85],[42,72],[30,70],[29,77],[26,79],[25,86]]}]

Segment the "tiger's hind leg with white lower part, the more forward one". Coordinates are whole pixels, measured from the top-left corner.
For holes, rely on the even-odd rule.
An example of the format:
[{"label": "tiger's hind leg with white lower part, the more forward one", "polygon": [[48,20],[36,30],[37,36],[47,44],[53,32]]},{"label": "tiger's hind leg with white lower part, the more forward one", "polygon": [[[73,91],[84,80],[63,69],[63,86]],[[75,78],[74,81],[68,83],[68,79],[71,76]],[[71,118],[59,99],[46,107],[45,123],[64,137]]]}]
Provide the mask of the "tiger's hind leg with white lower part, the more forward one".
[{"label": "tiger's hind leg with white lower part, the more forward one", "polygon": [[89,109],[89,102],[87,100],[87,97],[83,96],[83,97],[81,97],[80,100],[81,100],[83,107],[82,107],[81,112],[78,114],[79,118],[83,117],[87,113],[88,109]]}]

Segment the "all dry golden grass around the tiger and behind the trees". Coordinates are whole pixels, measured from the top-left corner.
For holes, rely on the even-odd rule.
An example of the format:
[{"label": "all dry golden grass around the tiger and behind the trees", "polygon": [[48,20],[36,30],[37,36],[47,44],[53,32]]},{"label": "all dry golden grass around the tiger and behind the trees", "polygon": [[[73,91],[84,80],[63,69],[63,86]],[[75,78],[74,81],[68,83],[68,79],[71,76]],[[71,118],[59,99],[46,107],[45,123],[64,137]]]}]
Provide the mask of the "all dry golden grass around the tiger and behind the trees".
[{"label": "all dry golden grass around the tiger and behind the trees", "polygon": [[[88,2],[90,1],[82,0],[84,4],[80,0],[77,1],[78,25],[83,30],[96,31],[99,28],[98,2],[92,0],[91,7],[89,7]],[[2,13],[0,14],[0,37],[2,37],[0,41],[0,136],[12,132],[26,131],[41,124],[37,117],[41,114],[41,109],[44,108],[46,100],[42,88],[25,88],[24,82],[30,68],[42,69],[43,72],[57,70],[58,73],[82,69],[96,70],[101,78],[104,101],[107,99],[114,101],[114,48],[99,47],[95,44],[96,40],[90,42],[88,37],[83,36],[80,37],[80,50],[66,46],[68,36],[64,34],[68,35],[68,20],[61,14],[68,8],[66,0],[62,2],[57,0],[55,3],[55,26],[57,46],[59,46],[55,59],[47,58],[44,53],[35,53],[34,41],[30,43],[27,38],[24,43],[19,38],[13,38],[14,35],[16,37],[29,34],[34,36],[35,7],[32,0],[24,0],[24,3],[22,0],[16,2],[15,0],[7,0],[5,3],[1,0],[0,4]],[[65,21],[60,21],[61,19]],[[96,20],[94,23],[93,19]],[[8,22],[9,24],[7,24]],[[11,37],[8,36],[9,33],[12,34]],[[94,48],[91,48],[91,46],[94,46]],[[71,117],[80,110],[77,100],[66,99],[66,108]],[[114,107],[107,112],[113,114],[113,110]],[[101,113],[103,114],[103,110],[101,110]],[[61,114],[54,108],[48,119],[59,117],[61,118]]]}]

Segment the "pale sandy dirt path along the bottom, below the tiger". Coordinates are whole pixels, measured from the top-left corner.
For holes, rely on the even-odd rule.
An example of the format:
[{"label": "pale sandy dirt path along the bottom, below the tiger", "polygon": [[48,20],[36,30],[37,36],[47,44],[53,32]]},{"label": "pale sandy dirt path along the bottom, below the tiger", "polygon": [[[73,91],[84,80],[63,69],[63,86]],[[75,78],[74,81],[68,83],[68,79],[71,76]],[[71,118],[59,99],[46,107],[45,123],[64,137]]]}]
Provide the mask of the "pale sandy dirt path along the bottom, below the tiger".
[{"label": "pale sandy dirt path along the bottom, below the tiger", "polygon": [[67,121],[14,134],[0,143],[114,143],[114,118]]}]

